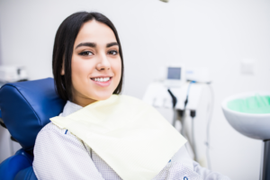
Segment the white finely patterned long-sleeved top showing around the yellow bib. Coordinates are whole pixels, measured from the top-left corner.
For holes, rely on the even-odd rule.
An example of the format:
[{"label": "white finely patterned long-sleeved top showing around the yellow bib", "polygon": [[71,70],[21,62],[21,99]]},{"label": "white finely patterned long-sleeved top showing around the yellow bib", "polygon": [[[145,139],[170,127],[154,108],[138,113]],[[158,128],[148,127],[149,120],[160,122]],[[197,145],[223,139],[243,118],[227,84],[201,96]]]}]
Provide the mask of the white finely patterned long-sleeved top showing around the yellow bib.
[{"label": "white finely patterned long-sleeved top showing around the yellow bib", "polygon": [[[82,107],[67,102],[60,116],[66,117]],[[53,123],[47,124],[37,136],[34,147],[33,170],[38,179],[53,180],[118,180],[113,169],[82,140],[59,129]],[[227,180],[227,176],[214,173],[193,161],[185,147],[172,157],[171,161],[154,178],[155,180]]]}]

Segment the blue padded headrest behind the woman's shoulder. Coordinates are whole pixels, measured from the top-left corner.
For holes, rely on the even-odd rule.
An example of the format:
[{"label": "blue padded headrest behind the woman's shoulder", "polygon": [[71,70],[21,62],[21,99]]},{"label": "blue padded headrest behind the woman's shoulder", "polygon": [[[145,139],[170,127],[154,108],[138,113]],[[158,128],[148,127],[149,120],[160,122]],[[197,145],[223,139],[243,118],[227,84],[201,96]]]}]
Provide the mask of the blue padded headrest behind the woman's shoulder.
[{"label": "blue padded headrest behind the woman's shoulder", "polygon": [[65,101],[55,91],[53,78],[3,85],[0,109],[6,128],[23,149],[31,151],[49,118],[63,111]]}]

